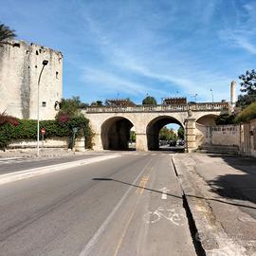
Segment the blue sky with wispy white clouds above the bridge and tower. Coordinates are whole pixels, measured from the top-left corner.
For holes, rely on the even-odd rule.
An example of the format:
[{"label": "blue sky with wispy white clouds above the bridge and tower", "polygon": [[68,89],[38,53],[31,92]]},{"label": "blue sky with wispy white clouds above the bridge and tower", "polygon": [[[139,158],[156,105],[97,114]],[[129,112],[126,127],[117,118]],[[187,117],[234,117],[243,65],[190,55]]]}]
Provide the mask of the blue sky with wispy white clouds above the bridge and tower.
[{"label": "blue sky with wispy white clouds above the bridge and tower", "polygon": [[64,98],[229,101],[255,68],[255,13],[255,0],[12,0],[0,22],[63,52]]}]

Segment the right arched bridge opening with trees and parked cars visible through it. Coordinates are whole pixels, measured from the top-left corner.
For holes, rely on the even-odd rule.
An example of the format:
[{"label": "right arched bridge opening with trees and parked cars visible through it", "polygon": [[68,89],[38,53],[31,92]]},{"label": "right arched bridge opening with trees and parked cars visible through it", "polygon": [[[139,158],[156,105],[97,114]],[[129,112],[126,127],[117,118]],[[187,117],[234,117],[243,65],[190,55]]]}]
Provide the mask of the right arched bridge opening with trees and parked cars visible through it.
[{"label": "right arched bridge opening with trees and parked cars visible through it", "polygon": [[[178,135],[178,130],[181,129],[183,137]],[[184,149],[184,127],[173,117],[163,116],[153,119],[147,126],[147,142],[148,150]]]}]

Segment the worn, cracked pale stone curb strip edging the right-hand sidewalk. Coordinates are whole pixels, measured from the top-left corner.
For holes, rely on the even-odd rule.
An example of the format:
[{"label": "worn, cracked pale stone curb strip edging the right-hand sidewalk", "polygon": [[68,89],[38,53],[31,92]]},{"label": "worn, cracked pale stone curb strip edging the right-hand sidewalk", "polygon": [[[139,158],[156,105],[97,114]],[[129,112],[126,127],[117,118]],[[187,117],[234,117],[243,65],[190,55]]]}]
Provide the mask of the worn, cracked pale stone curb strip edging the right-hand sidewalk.
[{"label": "worn, cracked pale stone curb strip edging the right-hand sidewalk", "polygon": [[[192,184],[193,166],[185,166],[180,160],[175,159],[175,156],[172,157],[172,161],[181,189],[184,192],[184,197],[188,203],[188,208],[192,213],[192,220],[197,229],[195,239],[203,247],[205,255],[247,255],[245,254],[245,248],[235,245],[224,232],[221,224],[215,219],[208,198],[202,192],[196,191],[196,186]],[[186,174],[183,170],[186,170]]]}]

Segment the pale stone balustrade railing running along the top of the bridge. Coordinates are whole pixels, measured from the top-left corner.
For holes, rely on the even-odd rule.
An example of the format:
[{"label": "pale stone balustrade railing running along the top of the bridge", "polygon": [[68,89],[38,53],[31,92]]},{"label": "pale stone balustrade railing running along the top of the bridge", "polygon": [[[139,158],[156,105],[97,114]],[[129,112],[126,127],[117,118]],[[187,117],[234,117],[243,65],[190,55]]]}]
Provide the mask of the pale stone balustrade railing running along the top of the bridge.
[{"label": "pale stone balustrade railing running along the top of the bridge", "polygon": [[175,105],[137,105],[137,106],[93,106],[85,109],[86,113],[123,113],[123,112],[186,112],[222,111],[229,109],[229,102],[206,102]]}]

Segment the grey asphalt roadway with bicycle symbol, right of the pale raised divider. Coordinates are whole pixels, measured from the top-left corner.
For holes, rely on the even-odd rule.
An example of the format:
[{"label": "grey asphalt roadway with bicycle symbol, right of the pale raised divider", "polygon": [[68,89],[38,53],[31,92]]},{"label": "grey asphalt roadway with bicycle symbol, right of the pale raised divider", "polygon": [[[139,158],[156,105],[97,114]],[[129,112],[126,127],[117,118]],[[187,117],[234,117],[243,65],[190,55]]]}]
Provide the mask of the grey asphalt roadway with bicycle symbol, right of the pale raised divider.
[{"label": "grey asphalt roadway with bicycle symbol, right of the pale raised divider", "polygon": [[1,185],[0,255],[196,255],[170,154]]}]

